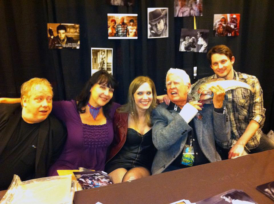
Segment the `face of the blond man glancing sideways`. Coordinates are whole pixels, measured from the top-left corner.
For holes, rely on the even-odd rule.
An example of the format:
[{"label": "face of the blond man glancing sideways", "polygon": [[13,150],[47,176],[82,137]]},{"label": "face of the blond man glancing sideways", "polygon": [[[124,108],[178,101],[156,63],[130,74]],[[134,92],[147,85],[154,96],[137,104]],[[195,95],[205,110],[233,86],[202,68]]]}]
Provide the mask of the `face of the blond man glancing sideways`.
[{"label": "face of the blond man glancing sideways", "polygon": [[52,90],[46,85],[35,85],[28,95],[22,98],[22,118],[27,123],[44,121],[52,110]]}]

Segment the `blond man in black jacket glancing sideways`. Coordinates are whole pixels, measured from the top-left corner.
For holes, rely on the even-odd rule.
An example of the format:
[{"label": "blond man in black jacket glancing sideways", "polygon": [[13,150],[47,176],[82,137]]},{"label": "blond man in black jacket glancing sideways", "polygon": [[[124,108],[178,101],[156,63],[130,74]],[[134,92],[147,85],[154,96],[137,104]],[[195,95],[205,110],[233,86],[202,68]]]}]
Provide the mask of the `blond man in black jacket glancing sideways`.
[{"label": "blond man in black jacket glancing sideways", "polygon": [[21,86],[21,105],[0,104],[0,190],[13,174],[22,181],[45,177],[61,153],[66,131],[49,115],[52,98],[49,81],[32,78]]}]

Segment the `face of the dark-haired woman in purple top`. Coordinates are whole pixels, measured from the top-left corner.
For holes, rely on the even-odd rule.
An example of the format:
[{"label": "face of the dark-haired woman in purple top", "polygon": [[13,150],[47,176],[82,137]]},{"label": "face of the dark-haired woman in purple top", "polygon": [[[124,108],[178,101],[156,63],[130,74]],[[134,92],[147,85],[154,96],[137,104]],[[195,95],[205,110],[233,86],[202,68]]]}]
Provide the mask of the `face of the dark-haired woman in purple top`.
[{"label": "face of the dark-haired woman in purple top", "polygon": [[113,96],[113,88],[107,87],[107,82],[94,84],[90,89],[89,103],[95,108],[106,105]]}]

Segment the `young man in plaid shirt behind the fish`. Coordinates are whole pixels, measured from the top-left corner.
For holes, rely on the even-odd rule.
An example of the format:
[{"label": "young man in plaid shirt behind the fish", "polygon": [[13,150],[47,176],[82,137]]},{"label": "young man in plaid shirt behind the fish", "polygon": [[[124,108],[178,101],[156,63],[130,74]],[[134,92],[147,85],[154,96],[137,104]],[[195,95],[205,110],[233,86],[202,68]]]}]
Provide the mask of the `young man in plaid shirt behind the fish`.
[{"label": "young man in plaid shirt behind the fish", "polygon": [[256,153],[273,149],[274,142],[261,130],[265,121],[265,108],[263,91],[257,77],[235,72],[235,58],[225,45],[211,48],[207,53],[207,59],[215,74],[198,80],[192,87],[199,86],[209,79],[223,78],[243,81],[254,89],[254,93],[245,88],[238,88],[225,94],[224,105],[230,117],[231,138],[228,142],[219,144],[223,159],[241,156],[245,150]]}]

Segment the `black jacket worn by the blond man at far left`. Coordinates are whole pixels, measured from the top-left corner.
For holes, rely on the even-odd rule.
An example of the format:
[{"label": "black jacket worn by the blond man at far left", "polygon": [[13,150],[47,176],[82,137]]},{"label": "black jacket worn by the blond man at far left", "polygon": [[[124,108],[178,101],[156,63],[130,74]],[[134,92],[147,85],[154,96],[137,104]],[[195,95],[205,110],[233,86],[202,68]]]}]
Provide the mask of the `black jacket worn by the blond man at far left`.
[{"label": "black jacket worn by the blond man at far left", "polygon": [[[21,104],[0,104],[0,155],[11,138],[22,117]],[[35,176],[47,175],[49,167],[63,150],[67,132],[62,123],[53,115],[40,123],[35,158]]]}]

